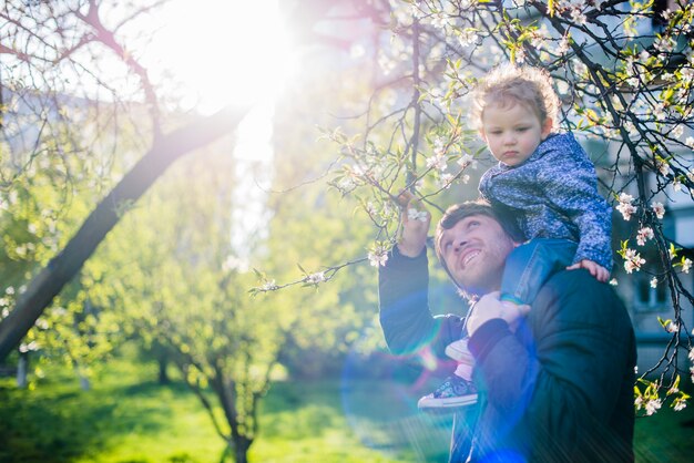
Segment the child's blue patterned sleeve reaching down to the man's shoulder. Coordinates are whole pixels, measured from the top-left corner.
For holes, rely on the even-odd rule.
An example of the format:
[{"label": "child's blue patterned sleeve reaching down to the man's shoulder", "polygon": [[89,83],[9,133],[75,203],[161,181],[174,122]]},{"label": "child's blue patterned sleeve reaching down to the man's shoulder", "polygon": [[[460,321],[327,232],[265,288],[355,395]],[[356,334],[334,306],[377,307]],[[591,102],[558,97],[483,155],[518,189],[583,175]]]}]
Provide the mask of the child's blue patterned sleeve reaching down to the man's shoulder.
[{"label": "child's blue patterned sleeve reaching down to the man's shoulder", "polygon": [[578,228],[579,247],[573,263],[588,259],[612,270],[612,208],[598,193],[595,166],[575,140],[572,152],[554,152],[539,171],[548,203]]}]

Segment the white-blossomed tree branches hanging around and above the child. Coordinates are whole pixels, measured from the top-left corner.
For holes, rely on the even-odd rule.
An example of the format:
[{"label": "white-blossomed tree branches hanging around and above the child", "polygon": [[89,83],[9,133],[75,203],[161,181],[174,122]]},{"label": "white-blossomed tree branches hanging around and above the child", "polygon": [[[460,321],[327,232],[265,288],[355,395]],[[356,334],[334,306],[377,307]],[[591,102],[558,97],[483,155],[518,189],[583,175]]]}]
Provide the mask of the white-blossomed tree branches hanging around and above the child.
[{"label": "white-blossomed tree branches hanging around and above the child", "polygon": [[[502,62],[543,68],[562,101],[563,128],[600,147],[591,155],[619,213],[615,228],[625,233],[616,249],[624,271],[650,272],[651,285],[666,286],[671,296],[672,318],[662,320],[670,342],[636,384],[636,408],[651,414],[663,400],[684,408],[682,373],[694,380],[694,367],[690,372],[678,367],[687,353],[694,363],[692,327],[683,317],[694,303],[683,279],[692,256],[664,234],[663,220],[669,195],[694,197],[694,6],[684,0],[366,3],[386,30],[371,41],[374,93],[354,117],[359,130],[325,134],[339,145],[331,186],[356,197],[375,226],[370,264],[382,265],[397,240],[402,191],[442,210],[449,192],[460,192],[478,175],[473,167],[486,158],[484,148],[467,120],[477,80]],[[417,218],[420,212],[407,214]],[[646,263],[646,248],[656,250],[653,261]],[[338,269],[324,269],[320,279]],[[295,282],[312,284],[316,275],[307,271]],[[646,380],[656,371],[655,380]]]}]

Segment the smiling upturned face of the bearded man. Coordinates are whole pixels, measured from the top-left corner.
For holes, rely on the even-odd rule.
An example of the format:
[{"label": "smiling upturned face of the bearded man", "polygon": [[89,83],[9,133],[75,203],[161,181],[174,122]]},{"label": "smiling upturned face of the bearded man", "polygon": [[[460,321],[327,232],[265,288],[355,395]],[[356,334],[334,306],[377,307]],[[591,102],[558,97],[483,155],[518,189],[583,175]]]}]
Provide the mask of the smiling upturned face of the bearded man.
[{"label": "smiling upturned face of the bearded man", "polygon": [[443,230],[439,246],[456,282],[467,292],[483,295],[501,287],[506,258],[518,244],[493,218],[473,215]]}]

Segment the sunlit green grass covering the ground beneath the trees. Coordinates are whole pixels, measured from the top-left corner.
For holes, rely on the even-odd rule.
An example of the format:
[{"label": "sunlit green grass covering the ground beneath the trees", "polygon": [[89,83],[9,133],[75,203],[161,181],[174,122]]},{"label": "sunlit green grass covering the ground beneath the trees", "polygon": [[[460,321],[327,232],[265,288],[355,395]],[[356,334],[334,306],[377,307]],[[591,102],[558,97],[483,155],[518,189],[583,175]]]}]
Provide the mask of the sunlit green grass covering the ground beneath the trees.
[{"label": "sunlit green grass covering the ground beneath the trees", "polygon": [[[220,461],[224,444],[197,399],[181,382],[155,383],[153,366],[110,363],[90,391],[70,371],[47,373],[34,390],[0,379],[0,462]],[[249,460],[443,462],[450,422],[419,413],[419,393],[392,382],[276,383]],[[694,404],[639,419],[637,461],[688,461],[692,425]]]}]

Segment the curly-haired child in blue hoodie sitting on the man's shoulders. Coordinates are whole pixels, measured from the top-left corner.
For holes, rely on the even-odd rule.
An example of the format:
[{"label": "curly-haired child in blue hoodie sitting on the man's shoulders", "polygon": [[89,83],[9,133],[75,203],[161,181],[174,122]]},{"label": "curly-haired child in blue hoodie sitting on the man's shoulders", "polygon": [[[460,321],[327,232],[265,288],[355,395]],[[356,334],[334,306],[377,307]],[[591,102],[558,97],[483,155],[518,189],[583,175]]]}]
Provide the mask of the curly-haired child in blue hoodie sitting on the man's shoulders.
[{"label": "curly-haired child in blue hoodie sitting on the man's shoulders", "polygon": [[[558,110],[551,78],[539,69],[498,68],[474,93],[473,120],[499,161],[482,176],[480,193],[494,208],[513,214],[529,239],[507,259],[504,305],[532,303],[562,268],[585,268],[603,282],[610,277],[611,208],[598,193],[595,167],[581,145],[571,133],[552,132]],[[421,409],[477,401],[465,333],[446,353],[460,362],[456,374],[421,398]]]}]

